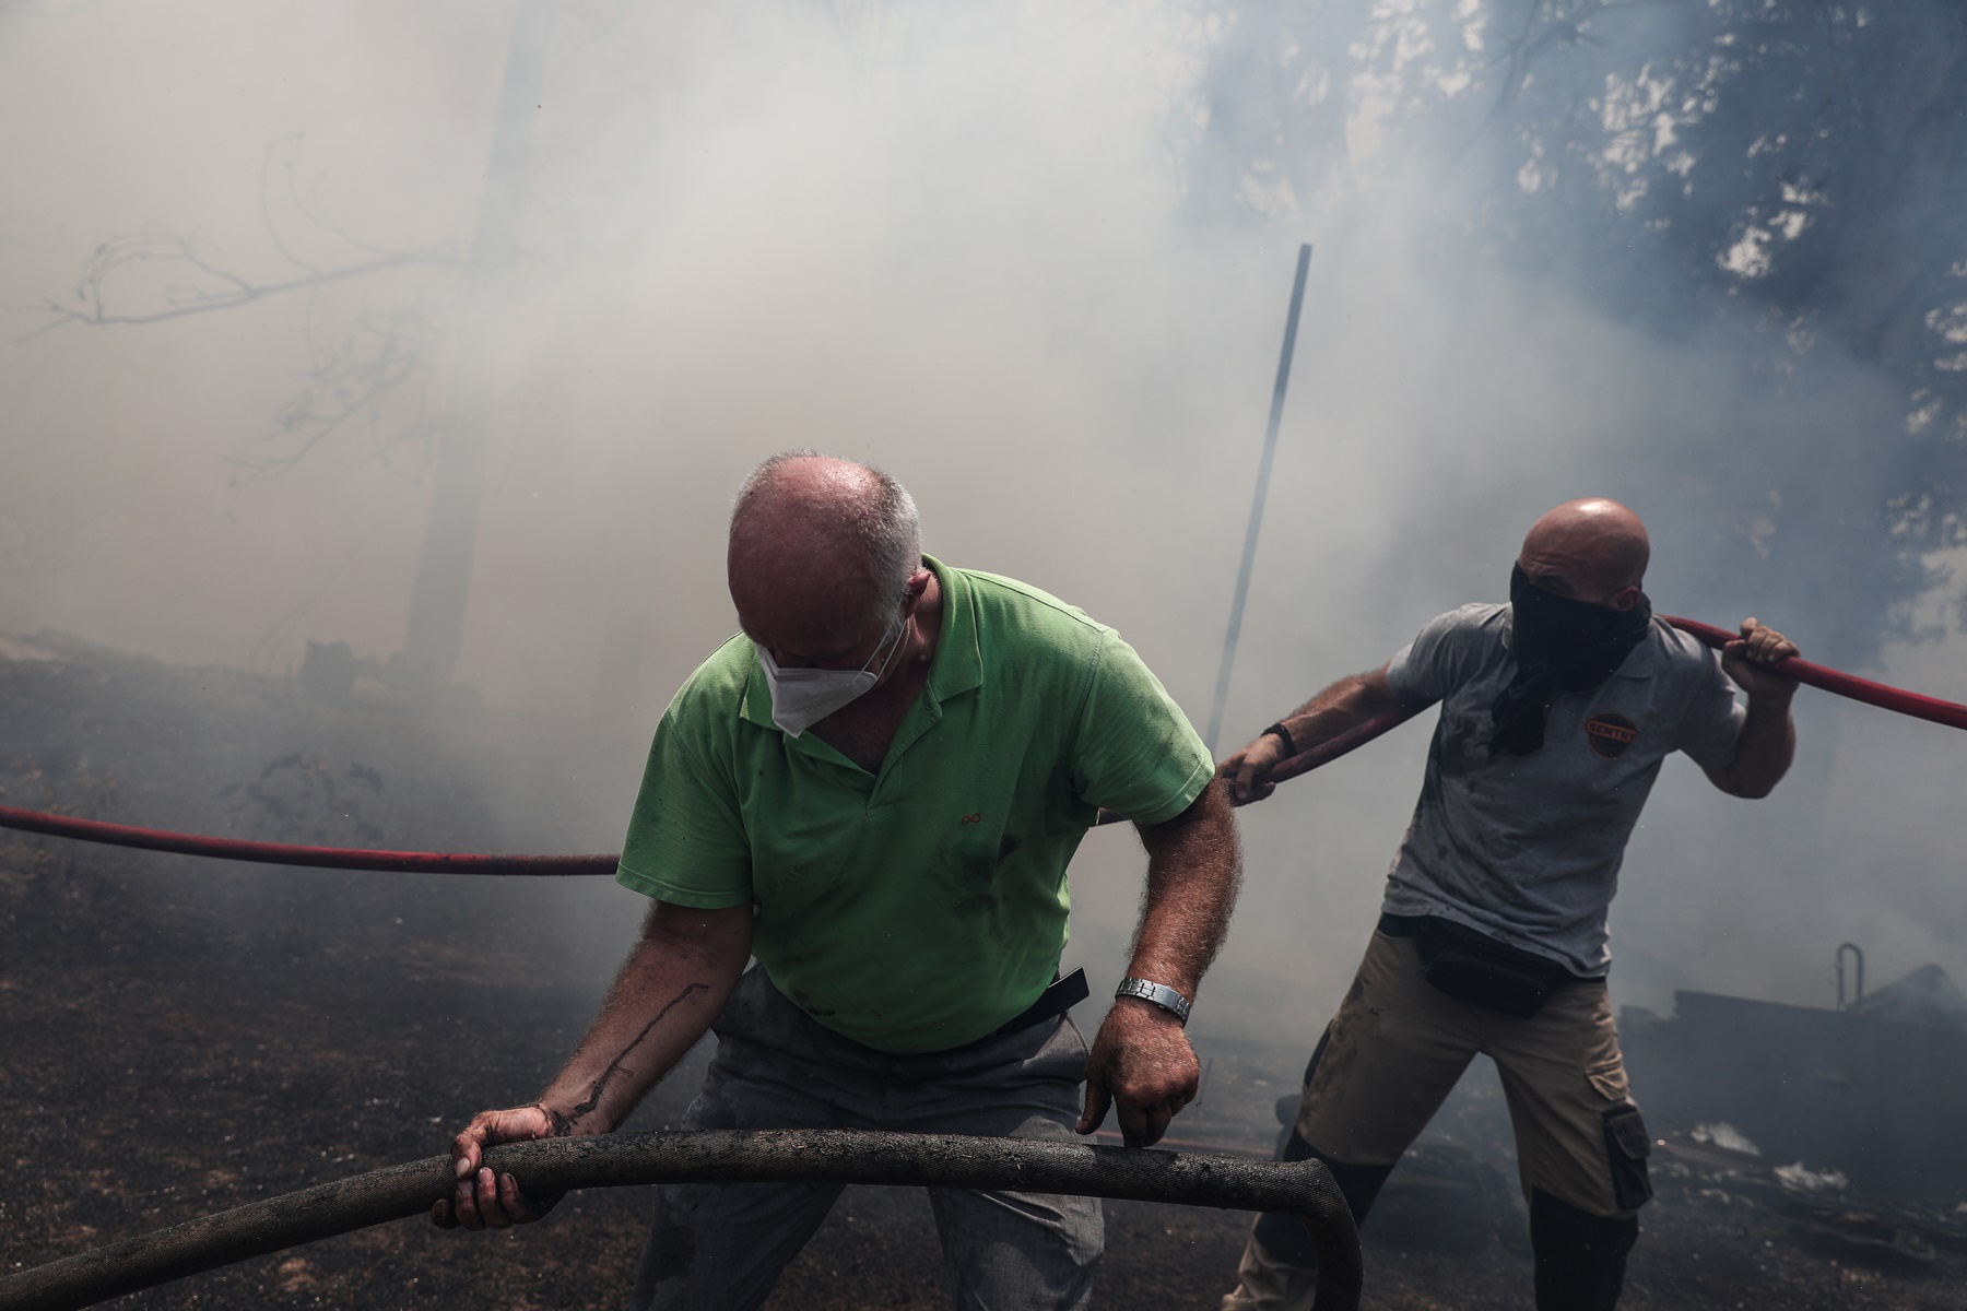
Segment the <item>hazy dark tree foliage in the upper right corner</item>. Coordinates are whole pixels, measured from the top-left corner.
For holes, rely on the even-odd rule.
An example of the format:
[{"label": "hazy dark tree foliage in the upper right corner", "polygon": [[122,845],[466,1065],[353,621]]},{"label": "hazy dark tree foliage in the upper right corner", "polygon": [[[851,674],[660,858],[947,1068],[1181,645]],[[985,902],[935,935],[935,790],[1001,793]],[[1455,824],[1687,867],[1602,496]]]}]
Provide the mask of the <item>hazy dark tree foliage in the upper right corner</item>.
[{"label": "hazy dark tree foliage in the upper right corner", "polygon": [[[1853,427],[1745,419],[1633,452],[1719,525],[1715,568],[1908,635],[1967,544],[1967,8],[1831,0],[1227,0],[1200,204],[1371,189],[1399,140],[1463,234],[1664,338],[1721,334],[1772,413],[1859,377]],[[1845,411],[1839,411],[1845,413]],[[1678,470],[1678,474],[1676,474]],[[1698,478],[1686,478],[1698,470]],[[1849,613],[1853,598],[1863,603]]]}]

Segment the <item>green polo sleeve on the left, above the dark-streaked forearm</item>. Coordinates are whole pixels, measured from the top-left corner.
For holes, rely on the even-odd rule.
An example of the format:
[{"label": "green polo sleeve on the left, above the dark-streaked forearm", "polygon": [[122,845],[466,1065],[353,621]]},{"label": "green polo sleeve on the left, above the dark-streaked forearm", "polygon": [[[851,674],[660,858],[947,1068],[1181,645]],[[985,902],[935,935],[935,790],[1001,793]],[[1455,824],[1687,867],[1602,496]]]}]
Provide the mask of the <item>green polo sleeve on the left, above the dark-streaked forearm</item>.
[{"label": "green polo sleeve on the left, above the dark-streaked forearm", "polygon": [[751,843],[730,770],[712,769],[688,737],[671,704],[655,725],[616,883],[698,910],[745,906],[751,900]]}]

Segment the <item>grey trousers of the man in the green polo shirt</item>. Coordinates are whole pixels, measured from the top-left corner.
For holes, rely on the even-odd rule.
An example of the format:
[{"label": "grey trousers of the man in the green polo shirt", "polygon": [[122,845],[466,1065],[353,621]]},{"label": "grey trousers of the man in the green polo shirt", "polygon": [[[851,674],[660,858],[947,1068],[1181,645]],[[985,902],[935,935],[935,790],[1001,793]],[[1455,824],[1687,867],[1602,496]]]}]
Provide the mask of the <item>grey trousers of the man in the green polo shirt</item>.
[{"label": "grey trousers of the man in the green polo shirt", "polygon": [[[714,1024],[683,1128],[879,1128],[1072,1138],[1086,1040],[1070,1018],[940,1055],[887,1055],[789,1002],[763,969]],[[629,1311],[749,1311],[818,1230],[838,1183],[661,1185]],[[1098,1199],[928,1189],[966,1311],[1076,1311],[1105,1242]]]}]

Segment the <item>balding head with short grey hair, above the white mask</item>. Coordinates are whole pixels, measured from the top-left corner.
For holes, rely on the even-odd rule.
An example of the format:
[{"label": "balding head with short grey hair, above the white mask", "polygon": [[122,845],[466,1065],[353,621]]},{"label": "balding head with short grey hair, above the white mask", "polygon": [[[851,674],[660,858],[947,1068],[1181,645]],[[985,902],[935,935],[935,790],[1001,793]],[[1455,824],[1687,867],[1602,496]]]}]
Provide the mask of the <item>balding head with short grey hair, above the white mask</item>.
[{"label": "balding head with short grey hair, above the white mask", "polygon": [[893,623],[923,570],[915,499],[865,464],[773,456],[738,489],[726,568],[753,639],[818,662],[852,655]]}]

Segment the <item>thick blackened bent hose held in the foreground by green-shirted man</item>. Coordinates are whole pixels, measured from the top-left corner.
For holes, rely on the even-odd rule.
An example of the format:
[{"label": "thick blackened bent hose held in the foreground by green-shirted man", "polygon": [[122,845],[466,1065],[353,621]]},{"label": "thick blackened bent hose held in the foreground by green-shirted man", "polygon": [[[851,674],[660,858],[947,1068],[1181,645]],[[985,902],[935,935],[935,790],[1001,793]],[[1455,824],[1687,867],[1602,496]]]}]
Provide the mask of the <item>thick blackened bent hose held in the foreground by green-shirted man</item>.
[{"label": "thick blackened bent hose held in the foreground by green-shirted man", "polygon": [[[486,1164],[543,1191],[824,1179],[1284,1211],[1304,1219],[1318,1250],[1320,1311],[1359,1305],[1359,1230],[1318,1162],[828,1128],[555,1138],[492,1148]],[[203,1270],[425,1215],[450,1189],[450,1158],[437,1156],[271,1197],[0,1278],[0,1311],[90,1307]]]}]

